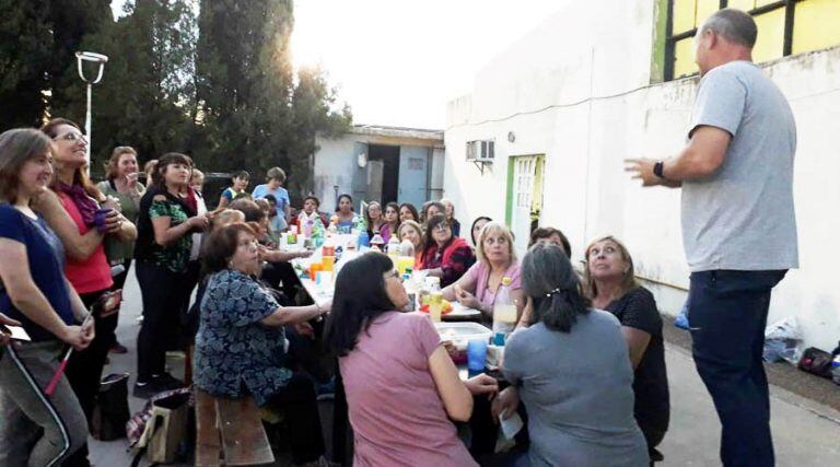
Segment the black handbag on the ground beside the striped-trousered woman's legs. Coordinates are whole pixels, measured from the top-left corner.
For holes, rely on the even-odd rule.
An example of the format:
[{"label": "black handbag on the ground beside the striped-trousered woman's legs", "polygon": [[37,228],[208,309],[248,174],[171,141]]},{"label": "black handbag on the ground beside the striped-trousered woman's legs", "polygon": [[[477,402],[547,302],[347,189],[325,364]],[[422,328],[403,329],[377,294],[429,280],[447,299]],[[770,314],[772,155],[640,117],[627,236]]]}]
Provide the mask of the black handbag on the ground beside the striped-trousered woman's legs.
[{"label": "black handbag on the ground beside the striped-trousered woman's legs", "polygon": [[128,373],[112,373],[100,384],[91,418],[91,434],[100,441],[126,437],[128,410]]}]

